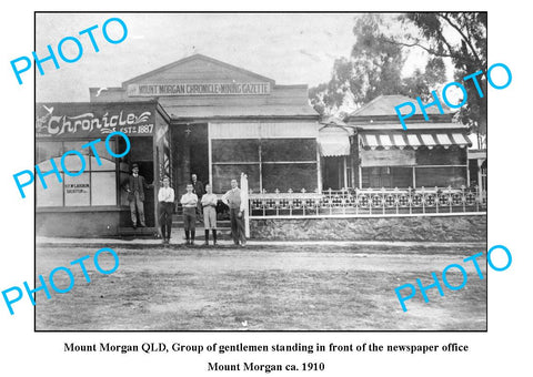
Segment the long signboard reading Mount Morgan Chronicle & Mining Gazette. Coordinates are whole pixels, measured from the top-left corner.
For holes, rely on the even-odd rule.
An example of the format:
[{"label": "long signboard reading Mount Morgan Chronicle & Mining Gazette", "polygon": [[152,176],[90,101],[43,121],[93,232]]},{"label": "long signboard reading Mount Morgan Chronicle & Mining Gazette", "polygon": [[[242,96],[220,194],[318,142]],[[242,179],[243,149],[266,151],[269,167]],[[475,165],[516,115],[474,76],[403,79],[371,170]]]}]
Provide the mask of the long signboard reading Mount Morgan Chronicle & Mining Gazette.
[{"label": "long signboard reading Mount Morgan Chronicle & Mining Gazette", "polygon": [[158,95],[263,95],[270,94],[270,82],[129,84],[129,96]]}]

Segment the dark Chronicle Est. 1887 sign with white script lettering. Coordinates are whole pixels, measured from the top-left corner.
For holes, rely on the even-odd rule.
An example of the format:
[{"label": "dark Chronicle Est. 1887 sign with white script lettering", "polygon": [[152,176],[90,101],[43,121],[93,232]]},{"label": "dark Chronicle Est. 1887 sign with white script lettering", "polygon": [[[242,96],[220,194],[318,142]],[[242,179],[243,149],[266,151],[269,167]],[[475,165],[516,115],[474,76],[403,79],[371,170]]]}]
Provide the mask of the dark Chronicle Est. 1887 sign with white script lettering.
[{"label": "dark Chronicle Est. 1887 sign with white script lettering", "polygon": [[145,103],[37,103],[36,136],[152,135],[155,106]]}]

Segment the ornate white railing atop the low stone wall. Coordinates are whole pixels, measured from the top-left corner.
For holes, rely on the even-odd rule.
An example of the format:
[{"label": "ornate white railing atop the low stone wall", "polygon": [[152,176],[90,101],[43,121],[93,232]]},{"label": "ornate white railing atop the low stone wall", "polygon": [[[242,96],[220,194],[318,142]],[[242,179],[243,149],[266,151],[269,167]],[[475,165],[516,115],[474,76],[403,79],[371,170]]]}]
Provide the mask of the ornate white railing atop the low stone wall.
[{"label": "ornate white railing atop the low stone wall", "polygon": [[354,188],[250,193],[250,216],[324,217],[460,214],[486,211],[477,187]]}]

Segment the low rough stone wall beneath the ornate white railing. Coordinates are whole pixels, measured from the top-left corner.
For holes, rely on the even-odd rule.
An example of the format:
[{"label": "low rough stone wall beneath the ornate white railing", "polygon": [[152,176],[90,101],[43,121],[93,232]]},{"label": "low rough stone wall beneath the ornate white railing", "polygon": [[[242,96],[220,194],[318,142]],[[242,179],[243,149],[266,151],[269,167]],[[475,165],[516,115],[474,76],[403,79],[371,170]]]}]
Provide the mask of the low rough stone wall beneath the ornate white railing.
[{"label": "low rough stone wall beneath the ornate white railing", "polygon": [[486,241],[486,216],[251,220],[257,240]]}]

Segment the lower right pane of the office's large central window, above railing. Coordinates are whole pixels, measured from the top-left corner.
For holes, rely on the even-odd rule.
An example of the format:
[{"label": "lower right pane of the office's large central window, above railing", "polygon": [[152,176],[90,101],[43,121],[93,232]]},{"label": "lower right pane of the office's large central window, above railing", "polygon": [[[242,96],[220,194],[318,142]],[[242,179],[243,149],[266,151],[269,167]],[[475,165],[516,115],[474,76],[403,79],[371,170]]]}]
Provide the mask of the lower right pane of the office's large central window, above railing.
[{"label": "lower right pane of the office's large central window, above railing", "polygon": [[263,164],[263,188],[266,192],[316,190],[316,164]]}]

